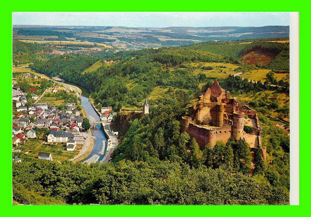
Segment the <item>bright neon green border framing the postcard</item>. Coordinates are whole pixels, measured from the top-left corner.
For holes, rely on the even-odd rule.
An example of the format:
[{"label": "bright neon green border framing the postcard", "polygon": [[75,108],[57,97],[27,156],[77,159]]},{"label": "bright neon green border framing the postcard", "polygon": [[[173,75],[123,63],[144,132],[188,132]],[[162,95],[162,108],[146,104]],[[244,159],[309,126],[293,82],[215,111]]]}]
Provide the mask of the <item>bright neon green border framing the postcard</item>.
[{"label": "bright neon green border framing the postcard", "polygon": [[[308,33],[310,32],[309,27],[309,11],[306,4],[300,4],[300,1],[295,2],[276,2],[271,1],[260,1],[252,2],[247,1],[245,4],[243,2],[236,1],[221,1],[221,2],[207,2],[207,1],[196,1],[196,2],[169,2],[169,1],[156,1],[156,2],[100,2],[100,3],[90,3],[86,5],[87,2],[78,1],[65,3],[64,1],[56,2],[38,2],[27,1],[23,4],[19,2],[10,2],[9,7],[3,6],[1,13],[2,21],[2,97],[4,97],[4,102],[2,108],[5,111],[2,112],[2,126],[11,125],[11,30],[12,30],[12,11],[300,11],[300,86],[299,95],[306,96],[308,89],[305,87],[309,85],[308,69],[306,64],[302,63],[308,62],[309,57],[309,41],[307,41]],[[308,25],[308,26],[307,26]],[[305,42],[305,43],[304,43]],[[303,44],[304,43],[304,44]],[[301,100],[299,103],[299,113],[308,114],[306,108],[309,105],[309,100]],[[308,150],[306,148],[309,144],[308,129],[304,126],[309,124],[307,118],[300,118],[300,205],[299,206],[12,206],[11,205],[11,128],[2,127],[2,155],[1,155],[1,165],[2,165],[2,178],[1,182],[1,196],[0,204],[4,208],[2,212],[5,215],[22,215],[22,216],[36,216],[36,215],[143,215],[143,216],[156,216],[156,215],[218,215],[223,216],[225,214],[229,215],[252,215],[252,216],[262,216],[262,215],[297,215],[297,208],[307,208],[309,203],[308,197],[310,188],[308,188],[309,176],[307,173],[307,168],[309,167],[309,160],[307,158]],[[3,152],[4,150],[4,152]],[[305,172],[305,173],[304,173]],[[281,208],[282,207],[282,208]],[[100,209],[100,210],[99,210]],[[67,211],[68,210],[68,211]],[[265,212],[265,211],[270,212]],[[44,212],[42,212],[44,211]],[[64,211],[64,212],[62,212]],[[91,212],[90,212],[91,211]],[[97,212],[101,211],[101,212]],[[300,209],[299,209],[300,211]],[[307,211],[307,210],[306,210]]]}]

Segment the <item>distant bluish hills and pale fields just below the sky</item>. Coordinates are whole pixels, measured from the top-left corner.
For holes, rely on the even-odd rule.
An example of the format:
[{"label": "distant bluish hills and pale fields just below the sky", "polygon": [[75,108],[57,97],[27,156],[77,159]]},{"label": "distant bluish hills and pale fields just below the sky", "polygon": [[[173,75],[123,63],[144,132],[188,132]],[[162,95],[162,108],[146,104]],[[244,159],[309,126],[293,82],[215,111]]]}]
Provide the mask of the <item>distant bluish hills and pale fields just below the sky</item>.
[{"label": "distant bluish hills and pale fields just below the sky", "polygon": [[13,25],[13,38],[105,43],[118,50],[181,46],[213,40],[289,37],[289,26],[166,27]]}]

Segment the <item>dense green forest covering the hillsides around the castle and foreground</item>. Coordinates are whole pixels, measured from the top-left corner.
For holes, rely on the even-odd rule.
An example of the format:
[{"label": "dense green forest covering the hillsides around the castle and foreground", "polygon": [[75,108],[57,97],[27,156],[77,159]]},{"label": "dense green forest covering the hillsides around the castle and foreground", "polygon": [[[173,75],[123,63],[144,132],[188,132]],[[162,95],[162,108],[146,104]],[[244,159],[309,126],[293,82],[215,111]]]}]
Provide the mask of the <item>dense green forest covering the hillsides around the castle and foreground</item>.
[{"label": "dense green forest covering the hillsides around the castle and foreground", "polygon": [[[267,159],[263,160],[261,149],[256,150],[252,171],[245,140],[231,138],[226,144],[217,142],[214,148],[207,144],[200,150],[194,139],[181,133],[180,123],[181,116],[191,115],[192,100],[215,79],[194,73],[196,68],[189,63],[224,62],[238,65],[236,72],[247,71],[255,66],[225,53],[232,48],[238,57],[239,52],[255,46],[277,47],[278,55],[285,52],[286,59],[288,45],[210,43],[205,47],[221,48],[212,52],[211,47],[204,50],[193,45],[109,53],[109,58],[120,62],[102,64],[88,72],[84,70],[97,61],[103,63],[104,57],[67,54],[35,61],[31,69],[90,90],[95,103],[113,106],[114,111],[123,106],[141,108],[156,87],[165,92],[149,99],[150,113],[131,121],[129,130],[119,135],[120,144],[109,164],[40,160],[13,164],[13,199],[24,204],[288,204],[290,150],[289,136],[283,129],[259,113]],[[278,65],[280,61],[284,60],[274,63],[278,70],[283,67]],[[269,72],[264,83],[232,75],[218,81],[232,93],[287,92],[289,84],[277,81],[274,73]]]}]

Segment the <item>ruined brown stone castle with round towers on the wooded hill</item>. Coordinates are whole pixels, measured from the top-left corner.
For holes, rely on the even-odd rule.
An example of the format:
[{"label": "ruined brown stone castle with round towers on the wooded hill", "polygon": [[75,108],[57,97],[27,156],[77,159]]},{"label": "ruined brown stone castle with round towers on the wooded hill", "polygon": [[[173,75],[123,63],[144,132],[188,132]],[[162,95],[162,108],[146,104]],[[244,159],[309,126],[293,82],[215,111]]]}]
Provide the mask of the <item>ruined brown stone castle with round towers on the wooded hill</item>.
[{"label": "ruined brown stone castle with round towers on the wooded hill", "polygon": [[[193,107],[191,117],[181,119],[181,130],[194,137],[201,149],[206,144],[214,147],[216,141],[226,143],[233,136],[244,138],[251,150],[262,148],[266,158],[266,147],[262,146],[262,129],[255,110],[238,104],[235,98],[230,99],[229,91],[219,86],[217,79],[205,94],[200,95],[198,104]],[[244,132],[244,126],[250,126],[253,132]]]}]

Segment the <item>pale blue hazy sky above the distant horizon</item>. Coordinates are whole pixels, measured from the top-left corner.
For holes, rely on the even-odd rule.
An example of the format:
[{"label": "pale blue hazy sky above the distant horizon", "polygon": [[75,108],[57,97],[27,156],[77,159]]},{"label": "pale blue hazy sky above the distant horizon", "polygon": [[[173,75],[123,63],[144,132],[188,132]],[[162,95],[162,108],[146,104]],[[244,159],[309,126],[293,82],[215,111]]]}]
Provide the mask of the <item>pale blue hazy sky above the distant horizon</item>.
[{"label": "pale blue hazy sky above the distant horizon", "polygon": [[265,26],[289,25],[289,12],[12,12],[13,25]]}]

